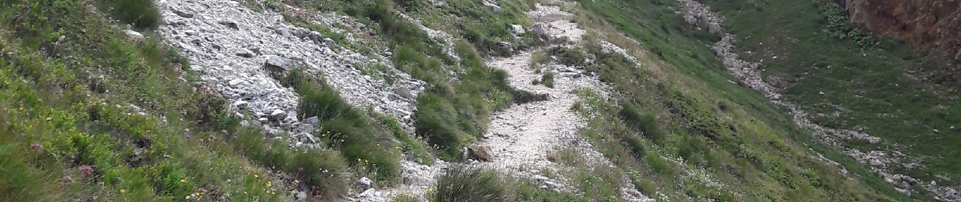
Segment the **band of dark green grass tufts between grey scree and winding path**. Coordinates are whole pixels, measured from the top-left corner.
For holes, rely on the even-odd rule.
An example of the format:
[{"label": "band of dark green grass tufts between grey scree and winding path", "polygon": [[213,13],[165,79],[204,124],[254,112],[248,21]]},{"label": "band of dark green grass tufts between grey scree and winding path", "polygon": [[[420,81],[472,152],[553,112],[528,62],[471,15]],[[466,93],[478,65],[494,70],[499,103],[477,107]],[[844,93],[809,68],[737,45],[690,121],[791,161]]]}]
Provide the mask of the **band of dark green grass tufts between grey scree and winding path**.
[{"label": "band of dark green grass tufts between grey scree and winding path", "polygon": [[[378,23],[391,48],[397,50],[394,66],[431,83],[428,92],[418,96],[416,133],[436,146],[440,157],[460,159],[460,148],[483,133],[486,116],[511,101],[506,73],[487,68],[474,47],[462,41],[454,47],[460,57],[455,63],[438,44],[425,41],[430,40],[426,33],[400,18],[390,2],[356,6],[346,12]],[[455,66],[464,71],[460,82],[452,82],[447,74]]]}]

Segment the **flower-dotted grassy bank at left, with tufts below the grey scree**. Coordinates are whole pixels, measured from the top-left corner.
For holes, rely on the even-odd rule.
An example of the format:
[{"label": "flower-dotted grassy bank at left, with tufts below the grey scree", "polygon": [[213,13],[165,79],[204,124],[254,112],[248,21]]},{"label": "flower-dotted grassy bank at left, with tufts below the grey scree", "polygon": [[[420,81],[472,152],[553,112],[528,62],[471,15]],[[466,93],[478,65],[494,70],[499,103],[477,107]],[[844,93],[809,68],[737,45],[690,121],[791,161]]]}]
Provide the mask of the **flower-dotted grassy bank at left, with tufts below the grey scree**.
[{"label": "flower-dotted grassy bank at left, with tufts below the grey scree", "polygon": [[[330,144],[267,139],[240,126],[175,50],[128,37],[98,11],[140,31],[158,23],[150,1],[0,6],[2,200],[337,200],[348,179],[398,180],[391,128],[380,126],[389,120],[372,122],[309,82],[319,89],[304,91],[313,100],[302,101],[310,109],[302,113],[333,114],[321,130],[333,134],[317,134]],[[357,151],[377,146],[382,152]]]}]

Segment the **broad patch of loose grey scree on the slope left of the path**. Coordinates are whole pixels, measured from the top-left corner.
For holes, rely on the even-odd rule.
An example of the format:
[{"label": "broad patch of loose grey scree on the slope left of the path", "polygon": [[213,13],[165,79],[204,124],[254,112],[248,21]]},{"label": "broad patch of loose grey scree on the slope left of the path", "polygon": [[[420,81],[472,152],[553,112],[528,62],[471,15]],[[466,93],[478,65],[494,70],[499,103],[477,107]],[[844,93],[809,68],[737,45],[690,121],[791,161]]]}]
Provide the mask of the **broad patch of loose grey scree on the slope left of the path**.
[{"label": "broad patch of loose grey scree on the slope left of the path", "polygon": [[268,131],[289,131],[304,124],[296,116],[296,93],[271,77],[272,71],[276,76],[282,74],[278,71],[294,68],[322,75],[352,105],[369,105],[397,118],[408,131],[413,129],[415,97],[426,83],[398,71],[392,73],[398,79],[387,84],[354,66],[390,67],[385,59],[361,56],[336,46],[325,35],[286,24],[280,14],[251,11],[235,1],[160,0],[157,4],[163,16],[157,32],[190,58],[190,68],[203,74],[206,85],[237,108],[250,111],[255,116],[252,120],[270,126]]}]

